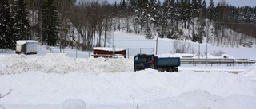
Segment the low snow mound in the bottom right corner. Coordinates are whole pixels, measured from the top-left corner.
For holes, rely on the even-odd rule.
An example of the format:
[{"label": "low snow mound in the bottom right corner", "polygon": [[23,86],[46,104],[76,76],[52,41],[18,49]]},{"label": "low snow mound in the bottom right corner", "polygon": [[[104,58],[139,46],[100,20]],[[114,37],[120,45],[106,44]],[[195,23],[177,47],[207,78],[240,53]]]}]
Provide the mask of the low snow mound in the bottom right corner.
[{"label": "low snow mound in the bottom right corner", "polygon": [[208,91],[195,90],[178,97],[158,99],[148,109],[252,109],[256,107],[256,98],[244,95],[221,97]]}]

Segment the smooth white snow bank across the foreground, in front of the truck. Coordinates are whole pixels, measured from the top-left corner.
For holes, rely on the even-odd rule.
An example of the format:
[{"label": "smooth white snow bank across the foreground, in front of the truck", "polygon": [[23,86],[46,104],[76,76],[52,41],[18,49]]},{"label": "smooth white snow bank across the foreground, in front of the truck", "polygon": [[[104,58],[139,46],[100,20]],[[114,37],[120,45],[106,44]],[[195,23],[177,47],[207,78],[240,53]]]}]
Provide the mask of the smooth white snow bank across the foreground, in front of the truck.
[{"label": "smooth white snow bank across the foreground, in front of the truck", "polygon": [[[0,93],[3,94],[12,89],[10,95],[1,99],[2,104],[49,105],[62,104],[66,99],[82,99],[86,104],[142,105],[158,99],[176,97],[181,98],[182,103],[186,103],[190,99],[199,100],[202,96],[205,96],[202,100],[207,99],[208,95],[220,96],[218,99],[238,95],[239,101],[242,98],[251,99],[251,102],[256,104],[255,82],[225,72],[169,73],[152,69],[98,74],[23,72],[0,76],[0,88]],[[188,96],[186,93],[191,95]],[[204,93],[206,94],[202,95]],[[180,105],[183,106],[175,102],[175,106]],[[185,106],[187,105],[189,104]]]}]

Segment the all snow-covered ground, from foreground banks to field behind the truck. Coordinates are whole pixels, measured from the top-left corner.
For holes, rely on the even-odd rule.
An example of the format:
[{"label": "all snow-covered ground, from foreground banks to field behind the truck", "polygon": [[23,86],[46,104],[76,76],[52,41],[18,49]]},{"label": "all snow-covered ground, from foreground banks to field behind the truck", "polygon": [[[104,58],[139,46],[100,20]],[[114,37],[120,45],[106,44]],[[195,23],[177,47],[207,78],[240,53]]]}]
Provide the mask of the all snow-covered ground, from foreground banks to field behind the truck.
[{"label": "all snow-covered ground, from foreground banks to field behind the truck", "polygon": [[[178,56],[170,54],[172,43],[158,39],[158,55]],[[190,43],[198,48],[197,43]],[[154,48],[155,40],[116,32],[114,46]],[[29,56],[14,51],[0,55],[0,93],[3,96],[11,90],[0,98],[0,108],[62,109],[69,99],[81,99],[87,109],[256,108],[256,65],[186,64],[173,73],[153,69],[133,72],[131,54],[127,59],[105,59],[88,57],[92,53],[81,51],[76,55],[75,49],[64,53],[51,49],[52,53],[40,46],[37,55]],[[205,49],[206,45],[201,45],[201,51]],[[209,53],[218,50],[232,58],[256,59],[256,49],[208,45]]]}]

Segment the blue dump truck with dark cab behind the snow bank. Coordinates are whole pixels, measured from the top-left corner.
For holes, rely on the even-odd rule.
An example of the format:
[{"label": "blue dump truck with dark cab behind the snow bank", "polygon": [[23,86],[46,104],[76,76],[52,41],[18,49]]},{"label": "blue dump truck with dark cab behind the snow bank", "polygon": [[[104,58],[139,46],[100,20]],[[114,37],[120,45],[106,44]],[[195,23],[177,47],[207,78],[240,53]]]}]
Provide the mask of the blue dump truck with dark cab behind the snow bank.
[{"label": "blue dump truck with dark cab behind the snow bank", "polygon": [[178,72],[178,66],[180,64],[181,60],[179,57],[158,57],[147,54],[134,56],[134,71],[153,68],[161,72]]}]

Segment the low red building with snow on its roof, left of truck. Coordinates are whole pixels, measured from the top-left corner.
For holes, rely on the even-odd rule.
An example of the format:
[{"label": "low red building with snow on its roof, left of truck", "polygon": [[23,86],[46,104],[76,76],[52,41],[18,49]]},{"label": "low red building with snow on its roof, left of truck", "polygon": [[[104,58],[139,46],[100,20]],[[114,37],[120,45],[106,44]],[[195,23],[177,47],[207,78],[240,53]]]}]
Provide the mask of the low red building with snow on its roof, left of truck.
[{"label": "low red building with snow on its roof, left of truck", "polygon": [[94,57],[125,57],[126,49],[94,47]]}]

